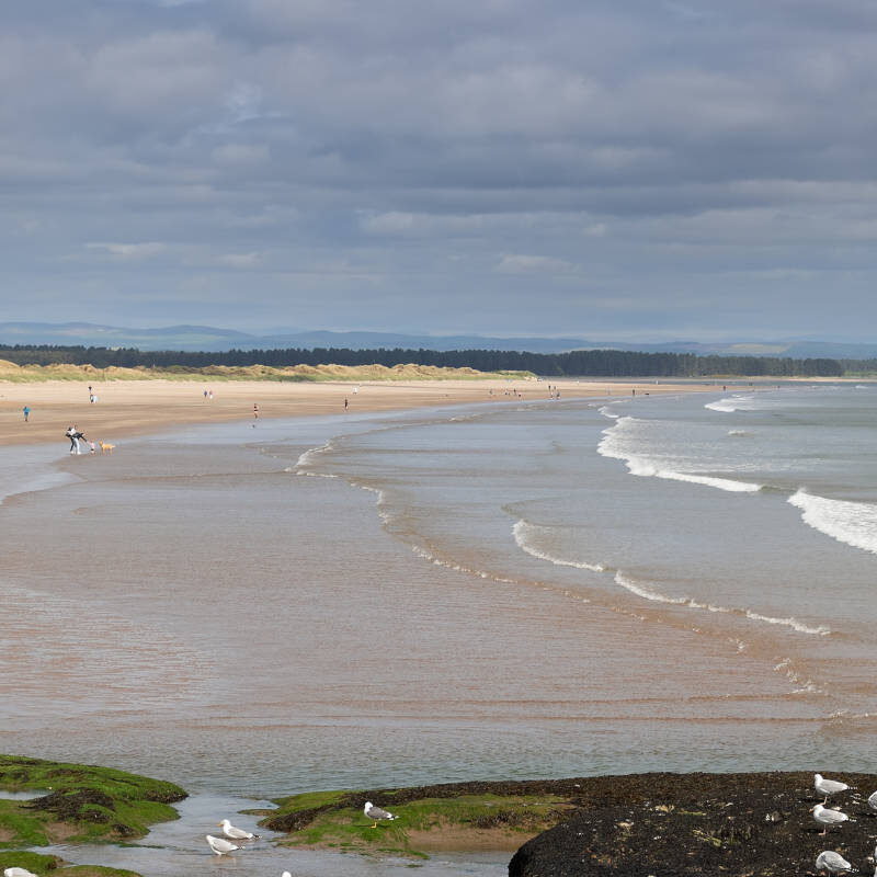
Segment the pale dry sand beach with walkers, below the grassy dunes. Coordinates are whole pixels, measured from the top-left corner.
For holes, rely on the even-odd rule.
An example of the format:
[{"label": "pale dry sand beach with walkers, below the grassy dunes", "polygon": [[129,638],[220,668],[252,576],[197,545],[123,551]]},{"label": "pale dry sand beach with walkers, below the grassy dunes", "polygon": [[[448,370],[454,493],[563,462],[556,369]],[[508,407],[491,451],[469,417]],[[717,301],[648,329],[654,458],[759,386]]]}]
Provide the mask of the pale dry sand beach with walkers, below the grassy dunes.
[{"label": "pale dry sand beach with walkers, below the grassy dunes", "polygon": [[[380,413],[471,403],[559,401],[582,398],[631,398],[634,395],[716,392],[720,384],[673,384],[654,380],[417,380],[417,381],[276,381],[166,380],[93,383],[96,402],[89,401],[84,380],[35,384],[0,381],[0,443],[30,445],[67,441],[64,431],[76,424],[94,442],[166,432],[202,423],[259,419]],[[729,387],[730,389],[730,387]],[[213,398],[204,396],[213,391]],[[634,392],[636,391],[636,392]],[[345,408],[345,399],[348,406]],[[23,408],[30,408],[24,422]]]}]

